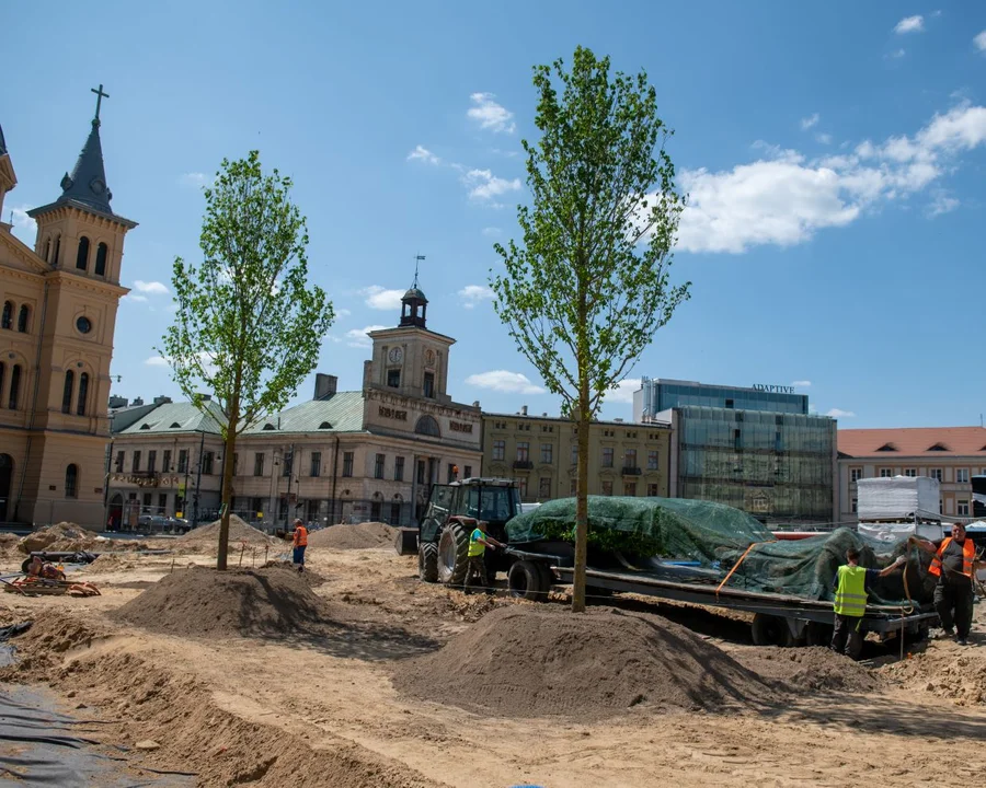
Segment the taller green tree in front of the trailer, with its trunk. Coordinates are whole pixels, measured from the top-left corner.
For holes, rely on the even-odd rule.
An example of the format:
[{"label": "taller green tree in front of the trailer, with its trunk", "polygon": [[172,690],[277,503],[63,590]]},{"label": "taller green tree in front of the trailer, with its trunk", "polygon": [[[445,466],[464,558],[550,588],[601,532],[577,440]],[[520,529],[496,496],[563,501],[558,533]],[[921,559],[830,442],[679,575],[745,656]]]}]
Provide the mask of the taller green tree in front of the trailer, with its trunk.
[{"label": "taller green tree in front of the trailer, with its trunk", "polygon": [[588,427],[688,298],[690,282],[668,278],[684,200],[645,72],[610,77],[608,57],[578,47],[571,71],[560,59],[537,66],[534,84],[541,139],[521,142],[532,205],[517,209],[523,245],[496,244],[506,273],[491,274],[491,285],[497,315],[575,422],[572,610],[582,612]]}]

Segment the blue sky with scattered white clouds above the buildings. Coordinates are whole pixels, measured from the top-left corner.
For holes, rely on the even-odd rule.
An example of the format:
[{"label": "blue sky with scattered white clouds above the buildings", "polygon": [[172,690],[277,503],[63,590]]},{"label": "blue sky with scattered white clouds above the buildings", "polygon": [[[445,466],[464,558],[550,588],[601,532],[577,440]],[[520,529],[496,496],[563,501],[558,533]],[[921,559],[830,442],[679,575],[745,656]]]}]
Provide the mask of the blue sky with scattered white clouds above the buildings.
[{"label": "blue sky with scattered white clouds above the buildings", "polygon": [[[295,181],[311,279],[337,320],[318,371],[362,384],[367,331],[397,325],[425,255],[428,327],[452,336],[449,394],[559,413],[496,317],[495,242],[520,240],[531,68],[576,46],[646,70],[688,195],[672,277],[691,300],[641,375],[795,385],[840,428],[979,424],[986,290],[986,3],[25,3],[0,81],[19,185],[50,202],[99,84],[126,240],[113,392],[180,398],[159,352],[174,257],[197,259],[202,187],[259,149]],[[4,216],[10,220],[10,216]],[[295,402],[309,398],[313,374]]]}]

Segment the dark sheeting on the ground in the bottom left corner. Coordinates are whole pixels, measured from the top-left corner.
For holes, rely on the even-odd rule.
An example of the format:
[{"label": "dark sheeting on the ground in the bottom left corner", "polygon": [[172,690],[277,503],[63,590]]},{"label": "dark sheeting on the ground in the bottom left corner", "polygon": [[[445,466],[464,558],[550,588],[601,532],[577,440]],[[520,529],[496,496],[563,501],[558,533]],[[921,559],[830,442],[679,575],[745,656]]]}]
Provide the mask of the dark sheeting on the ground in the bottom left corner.
[{"label": "dark sheeting on the ground in the bottom left corner", "polygon": [[50,693],[0,684],[0,786],[49,788],[188,788],[195,776],[159,772],[100,751],[98,720],[55,710]]}]

